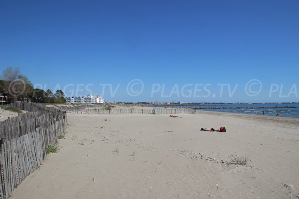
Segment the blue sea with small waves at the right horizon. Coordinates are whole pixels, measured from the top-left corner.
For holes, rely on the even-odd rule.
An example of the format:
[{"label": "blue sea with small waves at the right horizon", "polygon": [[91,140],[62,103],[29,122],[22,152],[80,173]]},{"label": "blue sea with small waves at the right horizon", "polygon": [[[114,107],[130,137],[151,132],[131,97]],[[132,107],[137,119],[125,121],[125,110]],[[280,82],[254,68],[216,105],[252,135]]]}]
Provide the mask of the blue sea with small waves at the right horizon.
[{"label": "blue sea with small waves at the right horizon", "polygon": [[[173,104],[175,106],[175,104]],[[283,107],[283,106],[295,106],[296,108],[254,108],[254,107]],[[169,107],[172,107],[169,106]],[[245,113],[245,114],[256,114],[276,116],[279,113],[281,117],[297,117],[299,118],[299,103],[204,103],[200,105],[180,105],[175,107],[214,107],[215,109],[199,109],[205,111],[218,111],[218,112],[231,112],[231,113]],[[219,107],[219,109],[217,108]],[[221,109],[221,107],[239,107],[239,108],[227,108]]]}]

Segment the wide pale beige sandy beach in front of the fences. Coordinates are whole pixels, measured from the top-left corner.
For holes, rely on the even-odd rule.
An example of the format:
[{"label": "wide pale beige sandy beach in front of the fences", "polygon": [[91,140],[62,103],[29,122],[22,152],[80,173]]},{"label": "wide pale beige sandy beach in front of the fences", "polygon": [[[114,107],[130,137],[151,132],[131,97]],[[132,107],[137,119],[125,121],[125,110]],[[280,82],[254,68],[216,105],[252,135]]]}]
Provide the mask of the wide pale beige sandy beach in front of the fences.
[{"label": "wide pale beige sandy beach in front of the fences", "polygon": [[[11,199],[297,199],[299,119],[178,116],[68,113],[59,151]],[[233,155],[248,165],[227,164]]]}]

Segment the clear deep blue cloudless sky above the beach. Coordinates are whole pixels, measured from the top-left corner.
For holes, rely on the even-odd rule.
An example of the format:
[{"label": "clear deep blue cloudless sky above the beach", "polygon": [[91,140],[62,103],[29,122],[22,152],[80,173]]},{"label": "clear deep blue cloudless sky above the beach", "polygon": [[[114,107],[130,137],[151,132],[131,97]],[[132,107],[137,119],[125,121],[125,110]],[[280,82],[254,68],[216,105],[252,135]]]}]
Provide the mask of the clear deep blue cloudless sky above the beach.
[{"label": "clear deep blue cloudless sky above the beach", "polygon": [[299,0],[0,0],[10,65],[36,88],[106,101],[299,101]]}]

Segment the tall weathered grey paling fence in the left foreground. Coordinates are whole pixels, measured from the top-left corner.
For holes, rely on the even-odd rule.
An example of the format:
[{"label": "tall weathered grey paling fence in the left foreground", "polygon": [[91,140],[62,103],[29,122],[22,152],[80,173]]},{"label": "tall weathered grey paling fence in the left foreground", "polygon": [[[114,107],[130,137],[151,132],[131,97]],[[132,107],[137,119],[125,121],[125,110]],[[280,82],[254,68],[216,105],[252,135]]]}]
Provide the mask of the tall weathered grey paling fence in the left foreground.
[{"label": "tall weathered grey paling fence in the left foreground", "polygon": [[38,103],[9,105],[27,112],[0,122],[0,199],[42,164],[47,147],[56,145],[66,127],[64,110]]}]

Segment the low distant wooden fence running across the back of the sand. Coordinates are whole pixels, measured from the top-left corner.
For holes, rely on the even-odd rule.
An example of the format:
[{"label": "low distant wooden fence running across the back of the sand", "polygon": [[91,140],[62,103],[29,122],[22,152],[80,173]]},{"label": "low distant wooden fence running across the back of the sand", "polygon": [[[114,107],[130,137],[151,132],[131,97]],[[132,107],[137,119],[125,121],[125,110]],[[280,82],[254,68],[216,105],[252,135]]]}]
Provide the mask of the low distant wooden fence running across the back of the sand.
[{"label": "low distant wooden fence running across the back of the sand", "polygon": [[83,109],[78,111],[67,110],[68,113],[80,113],[80,114],[196,114],[196,110],[192,108],[145,108],[145,109],[133,109],[133,108],[111,108],[107,110],[105,108],[93,108]]}]

